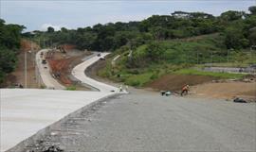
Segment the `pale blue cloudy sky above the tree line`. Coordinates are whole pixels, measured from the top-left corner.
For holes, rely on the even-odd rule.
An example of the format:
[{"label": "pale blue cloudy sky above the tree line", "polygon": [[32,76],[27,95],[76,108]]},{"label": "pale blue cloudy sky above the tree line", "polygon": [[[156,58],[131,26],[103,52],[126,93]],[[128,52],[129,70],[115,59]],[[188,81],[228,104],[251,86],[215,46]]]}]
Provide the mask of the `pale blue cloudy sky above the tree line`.
[{"label": "pale blue cloudy sky above the tree line", "polygon": [[176,10],[220,15],[256,6],[256,0],[0,0],[0,18],[26,31],[53,26],[76,29],[97,24],[141,21]]}]

